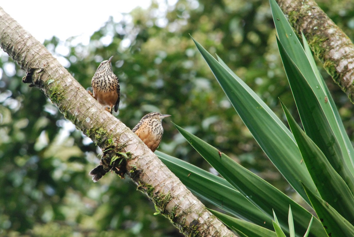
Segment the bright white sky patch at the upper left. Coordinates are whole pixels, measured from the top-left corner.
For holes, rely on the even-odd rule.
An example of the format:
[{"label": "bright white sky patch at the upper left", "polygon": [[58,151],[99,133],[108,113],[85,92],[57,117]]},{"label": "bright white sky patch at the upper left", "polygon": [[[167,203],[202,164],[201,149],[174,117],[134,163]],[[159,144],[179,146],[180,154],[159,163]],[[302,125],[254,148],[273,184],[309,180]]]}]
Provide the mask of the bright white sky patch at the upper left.
[{"label": "bright white sky patch at the upper left", "polygon": [[121,13],[130,12],[137,6],[147,8],[150,4],[151,0],[7,0],[0,6],[40,42],[53,35],[61,40],[80,35],[82,43],[87,43],[109,16],[118,22]]}]

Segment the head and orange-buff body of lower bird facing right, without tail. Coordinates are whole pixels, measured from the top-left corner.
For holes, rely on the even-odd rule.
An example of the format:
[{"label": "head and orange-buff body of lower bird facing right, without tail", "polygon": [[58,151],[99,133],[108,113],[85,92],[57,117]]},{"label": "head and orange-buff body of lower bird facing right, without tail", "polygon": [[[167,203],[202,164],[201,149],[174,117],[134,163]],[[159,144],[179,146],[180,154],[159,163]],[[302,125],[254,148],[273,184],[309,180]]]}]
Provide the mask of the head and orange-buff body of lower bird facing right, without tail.
[{"label": "head and orange-buff body of lower bird facing right, without tail", "polygon": [[140,122],[132,129],[145,145],[154,152],[160,145],[164,128],[162,128],[162,119],[169,117],[169,114],[159,114],[152,112],[145,115]]}]

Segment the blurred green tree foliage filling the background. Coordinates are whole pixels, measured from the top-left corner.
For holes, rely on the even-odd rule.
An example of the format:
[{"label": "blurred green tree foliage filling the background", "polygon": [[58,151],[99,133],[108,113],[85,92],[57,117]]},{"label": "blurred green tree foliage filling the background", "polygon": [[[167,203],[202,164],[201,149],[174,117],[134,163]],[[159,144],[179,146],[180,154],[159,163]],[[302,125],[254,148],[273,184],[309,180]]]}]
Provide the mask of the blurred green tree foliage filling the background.
[{"label": "blurred green tree foliage filling the background", "polygon": [[[353,40],[354,12],[349,9],[354,7],[348,7],[353,2],[318,4]],[[278,97],[295,109],[268,1],[179,0],[166,9],[153,3],[120,22],[109,18],[89,45],[74,37],[65,42],[53,37],[44,44],[85,88],[98,64],[113,55],[121,86],[121,105],[114,115],[130,128],[148,112],[172,115],[163,122],[160,151],[210,169],[172,120],[296,196],[235,115],[190,35],[217,53],[284,121]],[[25,72],[11,58],[3,55],[0,67],[1,234],[177,235],[167,219],[153,215],[153,204],[129,180],[107,174],[93,183],[88,173],[99,163],[101,150],[38,89],[21,82]],[[353,105],[322,75],[353,140]]]}]

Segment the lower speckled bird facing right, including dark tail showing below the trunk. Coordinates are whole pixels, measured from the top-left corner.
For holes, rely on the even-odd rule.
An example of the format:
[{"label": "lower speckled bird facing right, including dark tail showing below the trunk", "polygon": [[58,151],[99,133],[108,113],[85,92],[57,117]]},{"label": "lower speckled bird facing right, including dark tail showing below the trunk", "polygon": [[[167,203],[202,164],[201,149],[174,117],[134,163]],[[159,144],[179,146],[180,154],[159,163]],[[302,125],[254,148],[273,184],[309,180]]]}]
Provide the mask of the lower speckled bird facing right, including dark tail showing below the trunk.
[{"label": "lower speckled bird facing right, including dark tail showing below the trunk", "polygon": [[[158,112],[147,114],[138,122],[132,131],[154,152],[159,147],[162,134],[164,134],[162,119],[169,116],[171,115],[159,114]],[[106,153],[108,154],[109,152],[113,152],[113,150],[107,149],[106,152],[103,152],[101,163],[95,169],[91,170],[90,175],[92,176],[93,182],[97,182],[103,175],[115,167],[114,164],[110,164],[110,159],[107,158],[112,156],[106,156]],[[120,176],[124,176],[120,170],[114,169],[114,171]]]}]

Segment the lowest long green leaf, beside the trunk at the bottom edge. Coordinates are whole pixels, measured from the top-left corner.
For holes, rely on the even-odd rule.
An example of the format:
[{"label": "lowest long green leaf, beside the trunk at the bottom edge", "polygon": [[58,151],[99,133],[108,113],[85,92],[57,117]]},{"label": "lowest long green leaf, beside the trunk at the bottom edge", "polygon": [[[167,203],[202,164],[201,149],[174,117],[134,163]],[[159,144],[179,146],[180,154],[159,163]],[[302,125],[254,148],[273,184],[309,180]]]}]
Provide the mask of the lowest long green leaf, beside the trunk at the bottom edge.
[{"label": "lowest long green leaf, beside the trunk at the bottom edge", "polygon": [[238,232],[242,232],[244,235],[252,237],[276,237],[274,231],[268,230],[262,226],[252,224],[250,222],[234,218],[232,216],[225,215],[216,210],[209,209],[210,212],[221,220],[225,225],[230,228],[236,229]]}]

